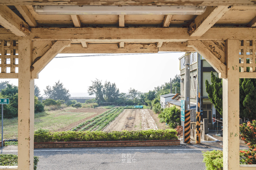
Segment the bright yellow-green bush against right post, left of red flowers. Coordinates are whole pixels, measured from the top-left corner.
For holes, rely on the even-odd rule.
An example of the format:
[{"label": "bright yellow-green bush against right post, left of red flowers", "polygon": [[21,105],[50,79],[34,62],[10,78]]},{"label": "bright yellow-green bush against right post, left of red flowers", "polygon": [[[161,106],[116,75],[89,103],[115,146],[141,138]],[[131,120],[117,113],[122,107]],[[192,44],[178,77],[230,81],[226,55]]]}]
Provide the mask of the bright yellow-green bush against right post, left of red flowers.
[{"label": "bright yellow-green bush against right post, left of red flowers", "polygon": [[222,151],[207,151],[203,152],[206,170],[221,170],[223,169],[223,152]]}]

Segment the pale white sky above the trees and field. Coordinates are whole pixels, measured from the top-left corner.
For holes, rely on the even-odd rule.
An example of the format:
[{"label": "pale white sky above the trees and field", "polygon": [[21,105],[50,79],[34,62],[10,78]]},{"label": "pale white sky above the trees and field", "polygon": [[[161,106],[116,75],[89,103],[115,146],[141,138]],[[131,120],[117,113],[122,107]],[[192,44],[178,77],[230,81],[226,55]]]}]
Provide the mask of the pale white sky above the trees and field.
[{"label": "pale white sky above the trees and field", "polygon": [[[102,80],[102,84],[106,80],[116,83],[120,92],[128,92],[130,87],[139,92],[148,92],[158,85],[169,82],[170,78],[174,78],[176,74],[180,74],[179,57],[184,54],[184,52],[108,56],[58,54],[56,57],[87,56],[52,59],[39,73],[39,78],[35,79],[35,85],[43,95],[47,85],[53,86],[60,80],[71,96],[82,97],[88,96],[86,94],[88,87],[97,78]],[[13,85],[18,85],[18,79],[1,79],[1,81],[6,80],[10,80]]]}]

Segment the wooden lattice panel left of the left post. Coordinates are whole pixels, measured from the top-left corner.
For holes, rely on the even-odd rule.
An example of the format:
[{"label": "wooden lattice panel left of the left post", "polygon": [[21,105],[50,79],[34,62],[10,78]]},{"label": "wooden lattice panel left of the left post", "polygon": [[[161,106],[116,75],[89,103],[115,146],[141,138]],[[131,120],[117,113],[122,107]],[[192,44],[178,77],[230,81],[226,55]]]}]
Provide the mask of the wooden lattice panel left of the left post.
[{"label": "wooden lattice panel left of the left post", "polygon": [[[18,54],[16,55],[16,51],[18,51],[18,44],[16,44],[15,40],[11,40],[11,41],[1,40],[0,42],[1,42],[0,44],[1,73],[18,73],[19,61],[18,61]],[[5,74],[5,77],[6,75],[7,74]],[[10,75],[13,75],[13,74],[10,74]]]}]

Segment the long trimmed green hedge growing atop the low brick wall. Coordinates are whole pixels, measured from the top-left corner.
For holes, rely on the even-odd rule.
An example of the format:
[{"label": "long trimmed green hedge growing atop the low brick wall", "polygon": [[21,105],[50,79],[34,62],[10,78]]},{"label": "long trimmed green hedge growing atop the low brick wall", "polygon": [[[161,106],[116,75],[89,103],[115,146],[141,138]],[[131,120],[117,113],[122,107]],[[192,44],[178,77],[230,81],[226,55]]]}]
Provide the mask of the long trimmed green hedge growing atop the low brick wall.
[{"label": "long trimmed green hedge growing atop the low brick wall", "polygon": [[38,129],[34,135],[35,142],[83,142],[83,141],[134,141],[134,140],[176,140],[175,129],[140,130],[140,131],[66,131],[50,132]]}]

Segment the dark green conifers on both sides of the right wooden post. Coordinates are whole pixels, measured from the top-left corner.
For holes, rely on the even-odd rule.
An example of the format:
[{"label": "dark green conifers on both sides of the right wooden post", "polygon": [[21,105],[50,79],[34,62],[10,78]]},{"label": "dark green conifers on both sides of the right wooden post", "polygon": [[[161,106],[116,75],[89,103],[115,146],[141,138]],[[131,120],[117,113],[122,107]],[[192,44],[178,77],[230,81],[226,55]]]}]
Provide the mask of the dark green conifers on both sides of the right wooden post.
[{"label": "dark green conifers on both sides of the right wooden post", "polygon": [[[211,73],[210,85],[208,80],[205,81],[206,92],[209,100],[222,115],[222,79]],[[250,120],[256,119],[256,79],[240,78],[239,79],[239,110],[240,117],[246,117]]]}]

